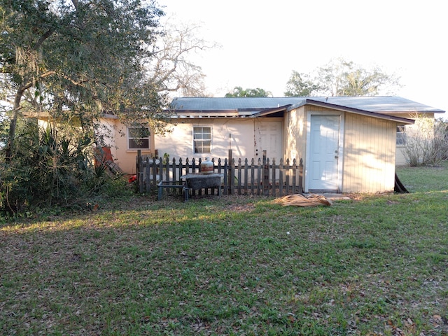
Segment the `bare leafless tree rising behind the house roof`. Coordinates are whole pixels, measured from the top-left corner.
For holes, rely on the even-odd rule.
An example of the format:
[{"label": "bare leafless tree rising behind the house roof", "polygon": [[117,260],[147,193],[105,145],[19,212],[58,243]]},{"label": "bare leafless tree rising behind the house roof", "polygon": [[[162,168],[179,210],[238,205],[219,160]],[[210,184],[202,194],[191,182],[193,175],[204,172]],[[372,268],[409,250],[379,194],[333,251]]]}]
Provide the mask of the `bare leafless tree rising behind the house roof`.
[{"label": "bare leafless tree rising behind the house roof", "polygon": [[160,92],[181,92],[184,97],[203,97],[206,94],[201,66],[190,61],[192,53],[215,48],[198,37],[200,25],[167,20],[165,32],[153,49],[153,59],[147,66],[149,81]]}]

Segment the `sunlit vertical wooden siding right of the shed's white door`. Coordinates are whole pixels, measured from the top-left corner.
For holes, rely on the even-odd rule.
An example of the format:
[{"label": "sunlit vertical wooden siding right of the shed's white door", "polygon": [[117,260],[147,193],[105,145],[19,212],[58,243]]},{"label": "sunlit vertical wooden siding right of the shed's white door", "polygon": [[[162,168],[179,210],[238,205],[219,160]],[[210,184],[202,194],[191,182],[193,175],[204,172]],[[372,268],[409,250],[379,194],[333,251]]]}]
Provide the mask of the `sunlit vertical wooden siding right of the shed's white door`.
[{"label": "sunlit vertical wooden siding right of the shed's white door", "polygon": [[345,115],[343,193],[393,191],[397,123]]}]

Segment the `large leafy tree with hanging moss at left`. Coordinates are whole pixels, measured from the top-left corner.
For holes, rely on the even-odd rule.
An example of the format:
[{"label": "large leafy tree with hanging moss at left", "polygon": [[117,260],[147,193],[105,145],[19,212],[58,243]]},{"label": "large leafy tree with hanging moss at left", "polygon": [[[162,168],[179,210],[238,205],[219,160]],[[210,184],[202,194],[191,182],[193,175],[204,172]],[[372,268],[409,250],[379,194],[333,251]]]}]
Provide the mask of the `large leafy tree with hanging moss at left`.
[{"label": "large leafy tree with hanging moss at left", "polygon": [[143,66],[163,15],[154,1],[0,0],[0,10],[0,66],[14,90],[6,160],[27,92],[28,110],[76,117],[85,132],[105,111],[127,123],[162,116]]}]

